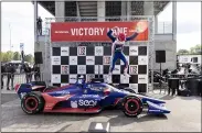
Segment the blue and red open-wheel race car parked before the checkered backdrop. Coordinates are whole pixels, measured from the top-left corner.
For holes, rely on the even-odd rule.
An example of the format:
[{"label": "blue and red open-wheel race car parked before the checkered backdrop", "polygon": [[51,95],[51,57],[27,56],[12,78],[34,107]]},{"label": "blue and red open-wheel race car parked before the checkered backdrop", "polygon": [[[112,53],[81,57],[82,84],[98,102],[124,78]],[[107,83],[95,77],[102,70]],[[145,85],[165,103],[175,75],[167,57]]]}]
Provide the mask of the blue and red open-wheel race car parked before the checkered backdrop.
[{"label": "blue and red open-wheel race car parked before the checkered backdrop", "polygon": [[148,113],[170,113],[163,100],[138,95],[130,89],[119,89],[104,81],[77,80],[63,87],[46,87],[45,82],[15,86],[21,108],[28,114],[40,112],[99,113],[107,107],[123,110],[127,117],[137,117],[147,109]]}]

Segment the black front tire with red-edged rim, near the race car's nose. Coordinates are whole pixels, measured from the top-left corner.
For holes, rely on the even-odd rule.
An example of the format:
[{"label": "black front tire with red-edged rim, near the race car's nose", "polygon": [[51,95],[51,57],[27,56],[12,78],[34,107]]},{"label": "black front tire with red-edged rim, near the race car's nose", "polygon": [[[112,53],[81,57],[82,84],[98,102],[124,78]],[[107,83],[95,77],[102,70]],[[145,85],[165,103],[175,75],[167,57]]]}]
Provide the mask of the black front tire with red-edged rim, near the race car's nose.
[{"label": "black front tire with red-edged rim, near the race car's nose", "polygon": [[142,112],[143,104],[138,97],[128,96],[123,100],[123,112],[127,117],[137,117]]}]

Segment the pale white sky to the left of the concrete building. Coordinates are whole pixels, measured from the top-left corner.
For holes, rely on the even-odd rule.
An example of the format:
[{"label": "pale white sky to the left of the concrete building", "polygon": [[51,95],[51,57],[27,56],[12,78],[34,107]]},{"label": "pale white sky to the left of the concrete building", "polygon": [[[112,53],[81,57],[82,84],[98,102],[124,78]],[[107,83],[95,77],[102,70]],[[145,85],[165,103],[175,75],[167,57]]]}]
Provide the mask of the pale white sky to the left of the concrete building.
[{"label": "pale white sky to the left of the concrete building", "polygon": [[[11,38],[11,44],[13,46],[11,47],[11,51],[20,52],[20,43],[24,43],[24,53],[34,54],[33,4],[31,2],[2,2],[1,12],[2,51],[10,51]],[[41,5],[39,5],[39,14],[42,20],[45,20],[45,18],[53,18],[53,15]]]}]

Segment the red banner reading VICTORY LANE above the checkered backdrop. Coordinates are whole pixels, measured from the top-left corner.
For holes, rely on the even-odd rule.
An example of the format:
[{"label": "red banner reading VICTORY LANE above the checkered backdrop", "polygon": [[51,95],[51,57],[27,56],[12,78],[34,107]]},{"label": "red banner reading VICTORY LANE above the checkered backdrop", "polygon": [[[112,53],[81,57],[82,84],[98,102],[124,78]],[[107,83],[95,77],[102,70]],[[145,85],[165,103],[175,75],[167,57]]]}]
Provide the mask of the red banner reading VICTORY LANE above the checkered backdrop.
[{"label": "red banner reading VICTORY LANE above the checkered backdrop", "polygon": [[[135,33],[137,25],[145,26],[134,41],[148,41],[148,22],[54,22],[51,23],[52,42],[110,42],[107,36],[109,29],[118,26],[114,31],[116,36],[119,32],[130,36]],[[141,27],[139,27],[141,29]],[[140,30],[141,31],[141,30]]]}]

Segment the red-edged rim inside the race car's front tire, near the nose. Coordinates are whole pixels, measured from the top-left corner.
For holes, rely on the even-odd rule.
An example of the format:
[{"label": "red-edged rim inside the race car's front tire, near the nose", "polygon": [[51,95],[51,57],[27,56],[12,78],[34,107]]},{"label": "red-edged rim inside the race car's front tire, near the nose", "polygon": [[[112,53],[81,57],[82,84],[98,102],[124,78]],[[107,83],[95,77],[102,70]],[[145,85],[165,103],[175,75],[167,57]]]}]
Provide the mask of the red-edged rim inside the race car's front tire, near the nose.
[{"label": "red-edged rim inside the race car's front tire, near the nose", "polygon": [[129,99],[125,104],[125,109],[129,113],[137,113],[139,110],[139,103],[136,99]]}]

